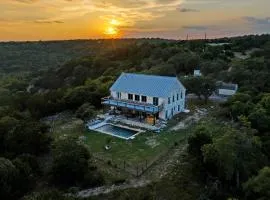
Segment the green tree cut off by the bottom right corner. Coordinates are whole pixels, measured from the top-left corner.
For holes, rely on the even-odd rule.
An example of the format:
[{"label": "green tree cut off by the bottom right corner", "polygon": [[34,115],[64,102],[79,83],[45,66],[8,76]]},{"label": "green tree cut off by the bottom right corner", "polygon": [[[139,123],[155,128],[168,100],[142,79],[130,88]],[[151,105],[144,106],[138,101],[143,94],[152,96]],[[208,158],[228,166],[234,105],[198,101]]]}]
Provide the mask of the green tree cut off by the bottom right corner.
[{"label": "green tree cut off by the bottom right corner", "polygon": [[250,178],[243,186],[247,199],[270,199],[270,167],[261,169],[257,176]]}]

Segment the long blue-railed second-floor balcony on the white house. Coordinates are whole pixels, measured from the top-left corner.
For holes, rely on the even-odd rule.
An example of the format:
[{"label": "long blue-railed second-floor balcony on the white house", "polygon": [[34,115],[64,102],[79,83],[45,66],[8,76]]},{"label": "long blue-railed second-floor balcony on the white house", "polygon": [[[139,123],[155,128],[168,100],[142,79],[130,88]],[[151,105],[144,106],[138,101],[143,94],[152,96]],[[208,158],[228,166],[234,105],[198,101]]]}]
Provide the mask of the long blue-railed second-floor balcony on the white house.
[{"label": "long blue-railed second-floor balcony on the white house", "polygon": [[152,114],[160,112],[163,108],[163,105],[156,106],[149,103],[131,101],[126,99],[115,99],[112,97],[104,97],[101,99],[101,101],[104,105],[122,107],[130,110],[136,110]]}]

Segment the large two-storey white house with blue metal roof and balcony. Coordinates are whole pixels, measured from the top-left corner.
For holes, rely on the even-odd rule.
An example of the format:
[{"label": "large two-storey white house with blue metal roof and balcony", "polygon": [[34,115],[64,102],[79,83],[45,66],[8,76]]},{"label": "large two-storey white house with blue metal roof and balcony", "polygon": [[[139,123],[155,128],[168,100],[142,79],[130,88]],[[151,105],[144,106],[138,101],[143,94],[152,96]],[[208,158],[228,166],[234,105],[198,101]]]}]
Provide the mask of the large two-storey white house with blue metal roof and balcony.
[{"label": "large two-storey white house with blue metal roof and balcony", "polygon": [[176,77],[122,73],[102,104],[127,117],[155,124],[185,110],[186,88]]}]

